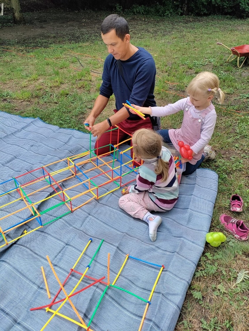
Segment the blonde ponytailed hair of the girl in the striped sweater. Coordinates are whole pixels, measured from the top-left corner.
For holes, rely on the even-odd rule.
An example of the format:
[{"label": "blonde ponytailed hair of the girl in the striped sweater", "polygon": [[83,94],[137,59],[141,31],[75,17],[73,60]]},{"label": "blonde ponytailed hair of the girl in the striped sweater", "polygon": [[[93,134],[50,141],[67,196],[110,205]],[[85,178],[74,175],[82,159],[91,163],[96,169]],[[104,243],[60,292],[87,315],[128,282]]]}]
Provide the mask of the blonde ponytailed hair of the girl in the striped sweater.
[{"label": "blonde ponytailed hair of the girl in the striped sweater", "polygon": [[[148,160],[160,156],[162,149],[162,137],[153,130],[139,129],[132,136],[133,152],[136,158]],[[161,158],[157,160],[155,172],[162,174],[161,181],[168,178],[169,163]]]}]

